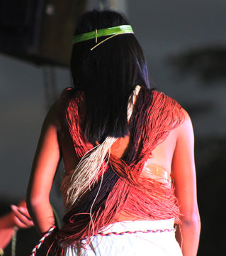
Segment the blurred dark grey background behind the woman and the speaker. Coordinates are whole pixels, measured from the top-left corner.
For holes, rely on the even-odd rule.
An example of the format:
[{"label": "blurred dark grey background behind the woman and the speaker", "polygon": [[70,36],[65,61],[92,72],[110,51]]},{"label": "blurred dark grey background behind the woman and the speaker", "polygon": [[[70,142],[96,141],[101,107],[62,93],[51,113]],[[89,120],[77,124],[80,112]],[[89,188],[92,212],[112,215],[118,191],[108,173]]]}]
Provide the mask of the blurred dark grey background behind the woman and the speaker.
[{"label": "blurred dark grey background behind the woman and the speaker", "polygon": [[[100,2],[88,1],[86,9],[98,7]],[[191,115],[202,220],[198,256],[225,255],[226,2],[110,2],[130,19],[145,50],[153,86],[174,97]],[[4,53],[0,54],[0,67],[0,214],[3,214],[9,210],[9,204],[26,196],[43,119],[62,89],[71,85],[71,78],[67,66],[37,65]],[[51,197],[58,213],[62,213],[57,189],[62,166],[58,172]],[[35,230],[20,230],[17,255],[27,255],[37,240]],[[10,247],[6,255],[9,253]],[[45,254],[39,252],[39,255]]]}]

